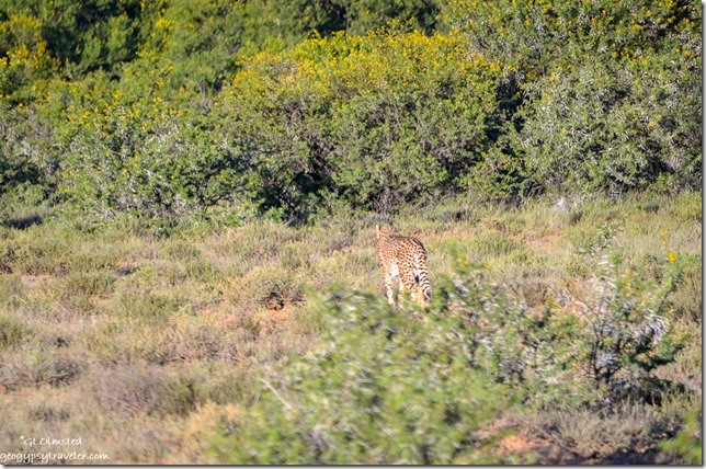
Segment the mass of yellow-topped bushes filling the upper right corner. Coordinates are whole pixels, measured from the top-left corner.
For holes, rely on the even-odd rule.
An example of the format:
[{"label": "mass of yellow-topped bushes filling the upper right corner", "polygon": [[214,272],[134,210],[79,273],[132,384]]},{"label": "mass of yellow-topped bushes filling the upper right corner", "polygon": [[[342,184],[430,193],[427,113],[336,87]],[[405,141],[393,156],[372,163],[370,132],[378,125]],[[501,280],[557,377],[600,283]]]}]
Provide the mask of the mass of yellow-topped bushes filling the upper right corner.
[{"label": "mass of yellow-topped bushes filling the upper right corner", "polygon": [[[587,195],[701,187],[701,10],[690,1],[449,1],[445,24],[493,57],[508,183]],[[516,180],[520,180],[517,182]]]}]

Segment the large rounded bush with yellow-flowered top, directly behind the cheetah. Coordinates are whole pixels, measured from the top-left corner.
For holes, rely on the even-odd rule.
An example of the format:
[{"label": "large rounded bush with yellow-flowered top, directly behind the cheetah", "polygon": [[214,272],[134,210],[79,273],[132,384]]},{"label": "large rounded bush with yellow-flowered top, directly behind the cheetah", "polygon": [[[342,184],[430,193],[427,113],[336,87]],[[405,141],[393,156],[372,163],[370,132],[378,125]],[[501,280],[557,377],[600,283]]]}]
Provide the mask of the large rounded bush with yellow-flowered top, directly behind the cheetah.
[{"label": "large rounded bush with yellow-flowered top, directly behind the cheetah", "polygon": [[457,36],[384,31],[259,55],[224,90],[228,136],[264,208],[297,216],[327,197],[391,211],[452,187],[493,129],[493,64]]}]

